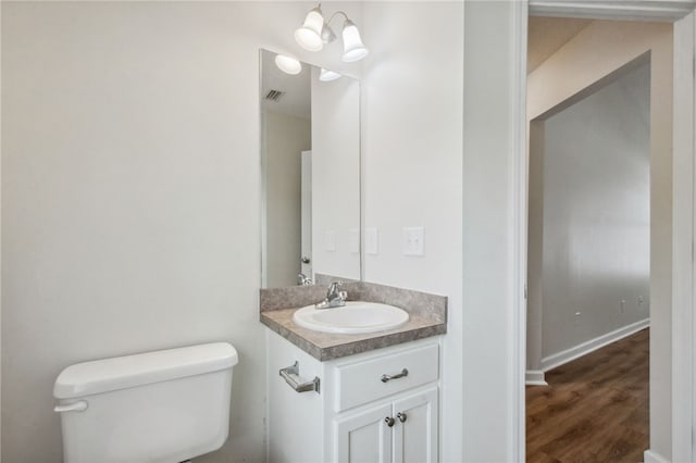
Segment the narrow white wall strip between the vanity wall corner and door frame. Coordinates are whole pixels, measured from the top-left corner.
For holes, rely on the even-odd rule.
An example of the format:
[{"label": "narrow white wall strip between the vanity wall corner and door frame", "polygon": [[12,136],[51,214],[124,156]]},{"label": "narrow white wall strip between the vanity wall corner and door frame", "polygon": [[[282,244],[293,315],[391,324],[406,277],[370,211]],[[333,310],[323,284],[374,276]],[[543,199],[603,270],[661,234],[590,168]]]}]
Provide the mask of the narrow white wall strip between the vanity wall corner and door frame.
[{"label": "narrow white wall strip between the vanity wall corner and door frame", "polygon": [[[519,461],[517,402],[524,400],[512,345],[518,316],[512,212],[520,203],[514,165],[514,11],[520,2],[464,2],[462,390],[467,462]],[[512,109],[512,110],[511,110]],[[518,147],[518,148],[515,148]],[[523,422],[522,422],[523,423]],[[521,446],[524,443],[522,442]],[[523,448],[523,447],[522,447]],[[523,458],[523,455],[521,455]]]}]

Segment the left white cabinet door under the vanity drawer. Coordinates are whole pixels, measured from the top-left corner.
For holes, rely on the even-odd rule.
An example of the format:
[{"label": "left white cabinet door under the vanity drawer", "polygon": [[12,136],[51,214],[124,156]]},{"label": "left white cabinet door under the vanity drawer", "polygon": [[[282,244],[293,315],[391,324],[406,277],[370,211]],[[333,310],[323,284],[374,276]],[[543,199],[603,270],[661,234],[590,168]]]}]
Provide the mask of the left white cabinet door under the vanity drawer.
[{"label": "left white cabinet door under the vanity drawer", "polygon": [[[340,463],[390,463],[394,427],[391,404],[386,403],[334,421],[334,461]],[[395,426],[396,427],[396,426]]]}]

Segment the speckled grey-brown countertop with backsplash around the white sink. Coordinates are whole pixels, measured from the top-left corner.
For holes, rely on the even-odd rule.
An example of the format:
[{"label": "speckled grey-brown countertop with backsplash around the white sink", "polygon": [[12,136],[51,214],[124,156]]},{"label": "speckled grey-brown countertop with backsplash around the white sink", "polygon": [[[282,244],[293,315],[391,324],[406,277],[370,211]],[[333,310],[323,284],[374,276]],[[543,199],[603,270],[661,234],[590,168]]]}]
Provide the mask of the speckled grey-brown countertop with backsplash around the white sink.
[{"label": "speckled grey-brown countertop with backsplash around the white sink", "polygon": [[406,325],[385,331],[339,335],[303,328],[293,321],[301,306],[323,299],[324,287],[261,290],[261,323],[320,361],[409,342],[447,333],[447,298],[369,283],[346,283],[348,300],[382,302],[409,312]]}]

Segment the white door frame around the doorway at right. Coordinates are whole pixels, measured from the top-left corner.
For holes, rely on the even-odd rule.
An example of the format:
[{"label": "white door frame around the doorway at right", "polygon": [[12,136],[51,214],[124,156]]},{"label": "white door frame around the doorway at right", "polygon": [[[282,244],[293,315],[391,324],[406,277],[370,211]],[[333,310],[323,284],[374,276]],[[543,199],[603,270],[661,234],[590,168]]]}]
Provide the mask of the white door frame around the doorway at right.
[{"label": "white door frame around the doorway at right", "polygon": [[696,196],[694,161],[696,117],[694,52],[696,43],[696,3],[678,1],[551,1],[514,0],[511,9],[512,57],[511,112],[513,126],[513,204],[511,223],[517,237],[511,253],[514,268],[513,337],[509,352],[512,375],[517,379],[510,391],[515,410],[511,429],[511,450],[517,461],[525,458],[525,363],[526,363],[526,247],[527,247],[527,154],[526,154],[526,40],[530,15],[584,17],[593,20],[661,21],[674,24],[673,91],[673,184],[672,184],[672,460],[694,461],[692,442],[695,428],[696,350],[694,317],[696,293],[694,241],[696,239]]}]

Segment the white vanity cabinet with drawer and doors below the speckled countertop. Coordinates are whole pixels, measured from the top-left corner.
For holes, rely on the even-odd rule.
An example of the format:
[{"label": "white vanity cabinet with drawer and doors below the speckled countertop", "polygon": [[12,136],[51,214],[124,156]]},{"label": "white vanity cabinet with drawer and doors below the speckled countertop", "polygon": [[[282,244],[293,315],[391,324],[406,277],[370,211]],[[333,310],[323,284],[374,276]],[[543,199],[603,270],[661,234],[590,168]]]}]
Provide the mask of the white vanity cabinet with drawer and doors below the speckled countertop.
[{"label": "white vanity cabinet with drawer and doors below the speckled countertop", "polygon": [[[269,461],[436,462],[439,337],[320,362],[266,331]],[[297,392],[290,379],[319,391]]]}]

